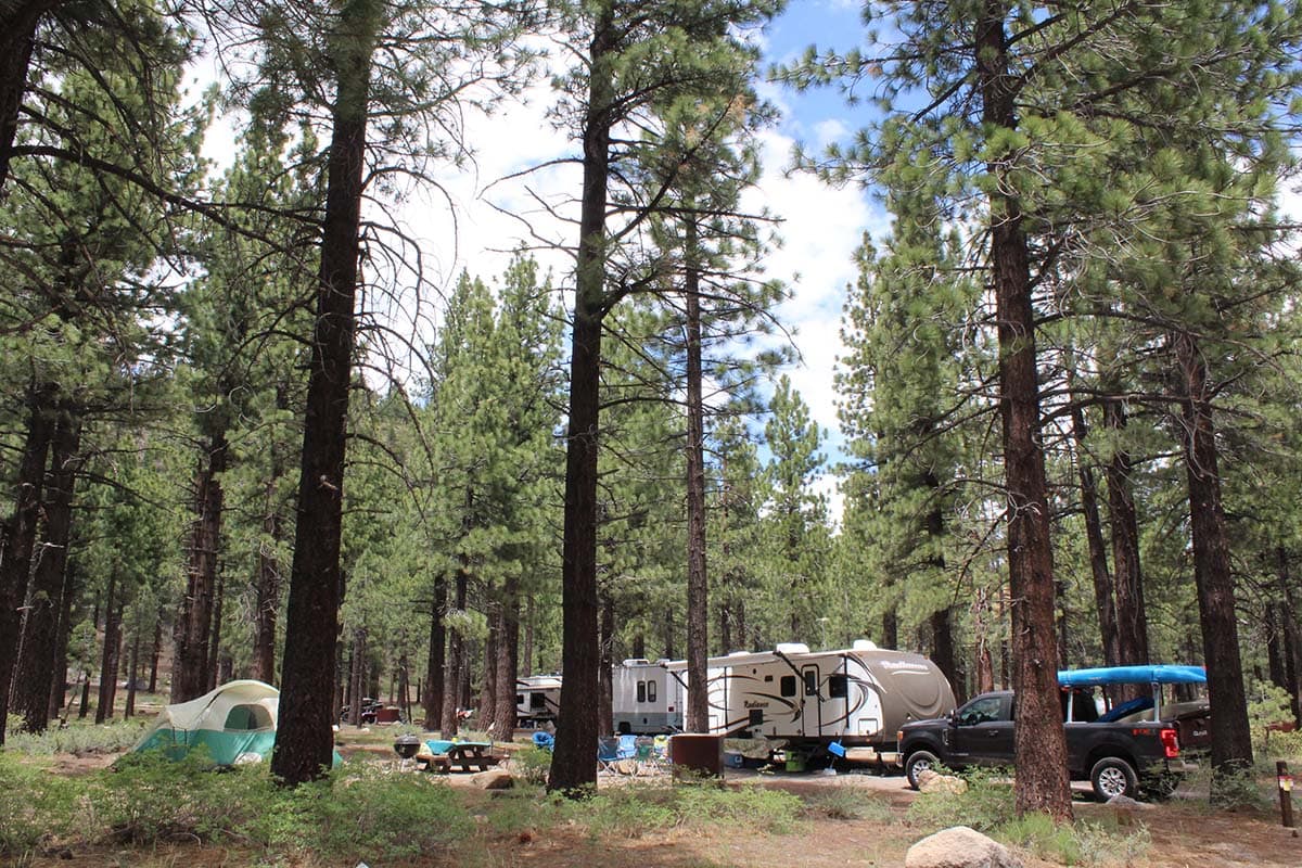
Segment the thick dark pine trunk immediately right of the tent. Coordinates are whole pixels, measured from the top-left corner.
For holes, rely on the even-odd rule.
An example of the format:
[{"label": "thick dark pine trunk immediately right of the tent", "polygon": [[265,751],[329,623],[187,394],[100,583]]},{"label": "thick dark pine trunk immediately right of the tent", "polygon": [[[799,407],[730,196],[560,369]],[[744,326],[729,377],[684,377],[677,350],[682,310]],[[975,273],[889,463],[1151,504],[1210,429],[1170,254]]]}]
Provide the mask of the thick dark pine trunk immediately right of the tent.
[{"label": "thick dark pine trunk immediately right of the tent", "polygon": [[336,714],[335,647],[344,591],[339,562],[344,452],[371,53],[380,17],[381,4],[376,0],[348,0],[340,9],[339,34],[332,40],[337,78],[333,130],[285,617],[280,722],[271,760],[272,774],[290,786],[322,777],[331,768],[335,751],[331,726]]}]

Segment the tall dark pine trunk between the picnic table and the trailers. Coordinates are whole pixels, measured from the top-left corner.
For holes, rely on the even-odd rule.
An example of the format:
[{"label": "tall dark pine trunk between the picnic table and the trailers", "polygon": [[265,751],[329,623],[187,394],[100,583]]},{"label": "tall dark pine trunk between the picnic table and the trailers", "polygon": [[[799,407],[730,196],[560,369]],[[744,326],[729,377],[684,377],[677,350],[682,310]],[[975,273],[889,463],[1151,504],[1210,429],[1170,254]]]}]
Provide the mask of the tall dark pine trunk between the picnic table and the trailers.
[{"label": "tall dark pine trunk between the picnic table and the trailers", "polygon": [[548,791],[579,796],[596,786],[599,735],[596,631],[596,466],[605,316],[605,208],[611,126],[616,111],[616,35],[611,4],[602,4],[589,52],[583,118],[583,194],[570,332],[570,402],[565,453],[565,527],[561,543],[562,626],[560,720]]}]

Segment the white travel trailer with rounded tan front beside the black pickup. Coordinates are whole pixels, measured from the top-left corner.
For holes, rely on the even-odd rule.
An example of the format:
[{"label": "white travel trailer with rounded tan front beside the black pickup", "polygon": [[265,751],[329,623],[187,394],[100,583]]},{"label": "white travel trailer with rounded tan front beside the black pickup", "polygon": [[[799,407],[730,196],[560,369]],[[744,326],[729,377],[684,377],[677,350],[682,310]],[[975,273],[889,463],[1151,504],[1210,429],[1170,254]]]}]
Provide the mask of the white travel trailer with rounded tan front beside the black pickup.
[{"label": "white travel trailer with rounded tan front beside the black pickup", "polygon": [[[685,661],[667,669],[686,683]],[[896,731],[954,707],[949,681],[922,655],[878,648],[810,651],[799,643],[707,661],[710,733],[792,744],[894,750]]]}]

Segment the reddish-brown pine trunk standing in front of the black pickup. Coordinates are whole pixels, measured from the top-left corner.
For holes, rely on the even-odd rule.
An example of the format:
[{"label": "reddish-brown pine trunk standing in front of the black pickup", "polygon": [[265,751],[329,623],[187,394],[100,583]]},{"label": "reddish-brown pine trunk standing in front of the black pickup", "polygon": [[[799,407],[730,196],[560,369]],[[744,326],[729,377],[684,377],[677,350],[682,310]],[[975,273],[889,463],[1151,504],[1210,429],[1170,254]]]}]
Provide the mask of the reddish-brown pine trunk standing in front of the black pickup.
[{"label": "reddish-brown pine trunk standing in front of the black pickup", "polygon": [[[1014,129],[1016,85],[1008,68],[1004,0],[984,0],[976,22],[976,74],[982,120]],[[1040,446],[1035,312],[1021,202],[1008,193],[1001,163],[988,167],[1000,190],[990,194],[991,264],[999,320],[1000,415],[1008,485],[1008,560],[1013,608],[1013,690],[1017,691],[1017,812],[1072,817],[1066,738],[1053,634],[1053,548]]]}]

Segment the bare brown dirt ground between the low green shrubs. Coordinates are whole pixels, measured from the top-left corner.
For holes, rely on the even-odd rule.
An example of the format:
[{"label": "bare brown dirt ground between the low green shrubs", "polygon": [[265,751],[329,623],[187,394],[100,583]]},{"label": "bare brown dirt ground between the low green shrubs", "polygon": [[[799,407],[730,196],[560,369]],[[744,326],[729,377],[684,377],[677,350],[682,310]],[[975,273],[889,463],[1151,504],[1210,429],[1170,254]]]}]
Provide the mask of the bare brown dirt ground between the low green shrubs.
[{"label": "bare brown dirt ground between the low green shrubs", "polygon": [[[345,752],[366,751],[389,759],[383,746],[352,746]],[[385,756],[387,755],[387,756]],[[102,768],[113,756],[61,756],[57,770],[78,774]],[[473,776],[449,774],[450,786],[462,789],[475,799],[491,799]],[[648,778],[603,776],[600,786],[639,786]],[[660,777],[663,781],[664,777]],[[579,829],[526,829],[512,835],[484,834],[467,842],[453,854],[440,854],[427,860],[405,863],[418,868],[898,868],[909,846],[926,834],[905,821],[905,812],[915,794],[902,777],[876,774],[760,774],[729,769],[729,786],[758,782],[781,787],[809,800],[836,790],[862,790],[866,799],[889,804],[892,821],[832,820],[811,816],[790,834],[762,835],[737,833],[727,828],[689,829],[626,838],[594,839]],[[1116,808],[1088,800],[1077,794],[1078,820],[1111,822]],[[1174,799],[1165,804],[1130,809],[1122,821],[1146,828],[1151,838],[1147,852],[1130,863],[1134,868],[1302,868],[1302,838],[1280,825],[1279,815],[1268,812],[1217,812],[1204,803]],[[1023,854],[1027,868],[1048,868],[1048,863]],[[147,852],[98,848],[86,852],[59,854],[26,859],[23,868],[242,868],[258,864],[254,854],[238,847],[211,847],[193,843],[151,847]],[[1125,864],[1117,861],[1113,864]],[[303,868],[324,868],[305,865]],[[355,865],[341,865],[355,868]],[[389,865],[370,863],[370,868]]]}]

